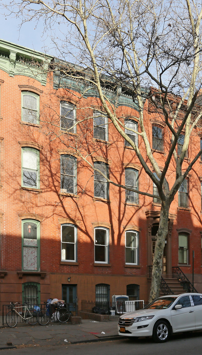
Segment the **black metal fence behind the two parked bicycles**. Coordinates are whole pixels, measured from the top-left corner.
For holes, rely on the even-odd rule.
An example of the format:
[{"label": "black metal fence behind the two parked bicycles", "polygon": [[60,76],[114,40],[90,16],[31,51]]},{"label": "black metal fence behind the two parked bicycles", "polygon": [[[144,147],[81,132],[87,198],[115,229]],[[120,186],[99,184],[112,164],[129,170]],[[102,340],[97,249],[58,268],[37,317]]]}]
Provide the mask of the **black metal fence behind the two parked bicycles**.
[{"label": "black metal fence behind the two parked bicycles", "polygon": [[[15,303],[15,302],[13,302]],[[65,304],[64,307],[66,307],[69,310],[70,316],[78,316],[78,305],[76,303],[68,303]],[[18,317],[18,323],[24,323],[23,319],[21,318],[24,317],[24,311],[25,311],[25,306],[23,305],[15,305],[16,311],[19,313],[17,315]],[[33,323],[36,322],[37,319],[37,313],[39,310],[43,309],[48,309],[50,316],[55,312],[57,305],[46,305],[46,304],[38,304],[38,305],[27,305],[27,308],[31,310],[33,318],[30,319],[30,321]],[[3,305],[3,311],[2,311],[2,324],[6,324],[6,315],[7,313],[11,311],[11,305]],[[56,322],[56,317],[53,318],[53,322]]]}]

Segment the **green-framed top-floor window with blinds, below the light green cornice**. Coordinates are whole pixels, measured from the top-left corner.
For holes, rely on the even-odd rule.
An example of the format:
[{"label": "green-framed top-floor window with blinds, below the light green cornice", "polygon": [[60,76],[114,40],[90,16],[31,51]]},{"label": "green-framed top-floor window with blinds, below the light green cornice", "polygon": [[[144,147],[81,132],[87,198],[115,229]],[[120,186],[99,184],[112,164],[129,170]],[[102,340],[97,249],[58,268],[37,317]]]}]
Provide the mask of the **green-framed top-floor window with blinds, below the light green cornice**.
[{"label": "green-framed top-floor window with blinds, below the light green cornice", "polygon": [[39,95],[22,92],[22,121],[39,124]]}]

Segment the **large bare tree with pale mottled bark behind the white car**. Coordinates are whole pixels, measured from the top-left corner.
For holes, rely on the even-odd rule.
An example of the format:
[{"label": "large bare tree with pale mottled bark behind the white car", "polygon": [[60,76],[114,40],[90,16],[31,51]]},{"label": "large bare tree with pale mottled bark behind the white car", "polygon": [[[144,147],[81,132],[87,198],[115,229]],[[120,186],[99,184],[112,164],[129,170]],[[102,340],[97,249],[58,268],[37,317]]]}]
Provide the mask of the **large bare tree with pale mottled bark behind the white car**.
[{"label": "large bare tree with pale mottled bark behind the white car", "polygon": [[[7,8],[21,16],[22,23],[28,20],[38,22],[43,18],[45,32],[58,25],[64,30],[58,57],[70,59],[74,64],[57,62],[55,70],[58,67],[64,77],[82,81],[84,92],[89,88],[96,89],[102,113],[107,114],[108,122],[133,147],[146,174],[156,185],[157,195],[130,189],[110,180],[104,170],[96,169],[96,174],[111,184],[161,200],[151,301],[158,296],[160,289],[170,204],[202,153],[201,149],[186,170],[182,169],[193,128],[197,126],[198,131],[201,130],[202,108],[196,99],[201,85],[202,5],[197,0],[174,0],[165,4],[147,0],[13,0]],[[53,40],[57,45],[59,39]],[[117,102],[107,97],[107,90],[116,94]],[[121,92],[128,92],[138,105],[139,131],[125,126],[123,117],[117,114]],[[147,104],[159,113],[170,137],[163,169],[155,159],[145,127],[144,109]],[[84,125],[90,119],[92,117],[86,116],[76,124]],[[64,128],[68,131],[72,126]],[[147,162],[137,141],[131,139],[130,131],[144,142]],[[158,149],[161,137],[158,137],[158,131],[154,134],[154,148]],[[92,152],[86,154],[82,151],[81,140],[84,142],[85,136],[74,147],[80,158],[95,169],[89,160]],[[176,175],[174,184],[169,186],[167,171],[171,161],[174,161]]]}]

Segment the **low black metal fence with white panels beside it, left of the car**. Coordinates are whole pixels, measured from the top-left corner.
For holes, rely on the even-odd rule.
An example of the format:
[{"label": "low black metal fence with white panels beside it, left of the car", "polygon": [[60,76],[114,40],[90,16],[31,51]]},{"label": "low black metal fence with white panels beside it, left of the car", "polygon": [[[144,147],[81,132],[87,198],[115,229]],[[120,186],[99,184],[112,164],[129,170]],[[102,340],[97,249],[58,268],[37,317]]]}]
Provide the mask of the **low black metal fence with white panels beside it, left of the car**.
[{"label": "low black metal fence with white panels beside it, left of the car", "polygon": [[144,300],[116,301],[116,303],[82,300],[82,311],[109,315],[110,318],[118,318],[123,313],[134,312],[145,306]]}]

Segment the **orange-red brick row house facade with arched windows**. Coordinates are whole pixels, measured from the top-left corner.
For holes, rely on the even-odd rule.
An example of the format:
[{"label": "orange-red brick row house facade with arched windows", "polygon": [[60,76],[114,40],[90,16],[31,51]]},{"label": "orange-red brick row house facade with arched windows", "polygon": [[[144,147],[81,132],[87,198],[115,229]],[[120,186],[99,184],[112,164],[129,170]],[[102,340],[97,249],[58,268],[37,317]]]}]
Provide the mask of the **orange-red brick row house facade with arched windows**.
[{"label": "orange-red brick row house facade with arched windows", "polygon": [[[42,61],[38,69],[36,63]],[[100,117],[95,90],[86,91],[79,80],[48,70],[54,61],[0,41],[1,306],[23,302],[29,292],[34,302],[56,297],[78,301],[79,307],[82,299],[111,300],[113,294],[148,300],[158,199],[108,186],[100,174],[94,175],[92,166],[140,191],[153,193],[155,186],[133,149],[107,118]],[[108,90],[111,100],[113,94]],[[138,127],[138,106],[127,93],[117,97],[117,112],[126,127]],[[163,166],[169,149],[165,124],[148,102],[144,116],[153,154]],[[74,126],[76,119],[81,122]],[[200,149],[195,131],[183,169]],[[144,152],[141,138],[132,138],[139,139]],[[91,166],[81,158],[87,155]],[[144,159],[148,161],[146,153]],[[198,291],[202,291],[201,162],[196,162],[171,204],[163,258],[165,275],[172,277],[172,267],[179,265],[191,279],[194,250]],[[174,171],[173,162],[170,184]]]}]

